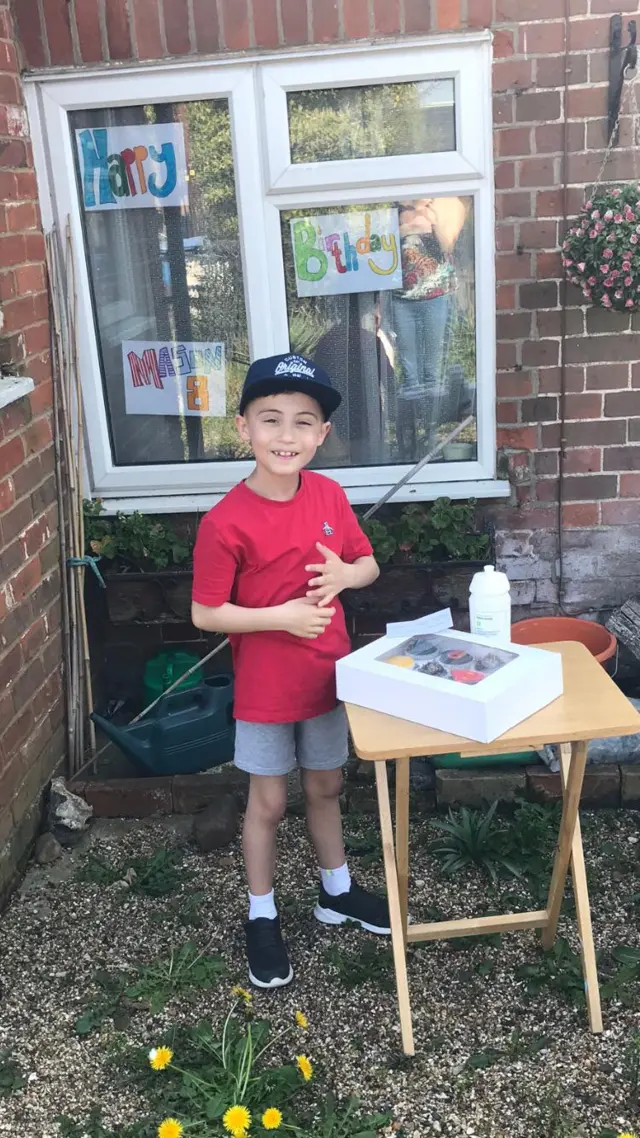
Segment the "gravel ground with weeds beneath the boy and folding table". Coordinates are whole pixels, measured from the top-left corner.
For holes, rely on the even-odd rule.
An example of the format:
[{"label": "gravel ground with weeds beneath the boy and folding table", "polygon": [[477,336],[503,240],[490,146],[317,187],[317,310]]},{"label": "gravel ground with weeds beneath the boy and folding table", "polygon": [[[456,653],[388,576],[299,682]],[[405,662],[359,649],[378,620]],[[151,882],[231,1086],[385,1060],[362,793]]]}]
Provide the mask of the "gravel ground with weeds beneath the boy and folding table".
[{"label": "gravel ground with weeds beneath the boy and folding table", "polygon": [[[0,1052],[11,1049],[27,1082],[0,1098],[0,1135],[56,1138],[58,1114],[83,1118],[95,1104],[104,1106],[112,1127],[142,1116],[145,1102],[136,1088],[114,1078],[114,1044],[124,1038],[150,1047],[170,1024],[203,1016],[220,1021],[230,984],[246,982],[239,843],[202,856],[188,842],[188,825],[187,818],[99,822],[82,848],[66,852],[54,867],[33,867],[14,897],[0,920]],[[350,818],[347,832],[362,835],[372,825],[372,818]],[[583,830],[598,950],[620,943],[640,947],[640,905],[633,901],[638,815],[586,814]],[[500,897],[481,874],[440,875],[426,849],[427,832],[426,820],[413,823],[413,918],[500,907]],[[77,880],[89,848],[106,861],[122,863],[125,856],[172,846],[183,848],[183,867],[194,876],[164,900]],[[354,860],[353,867],[360,881],[380,887],[379,861],[364,867]],[[311,915],[313,889],[304,824],[288,818],[280,838],[278,893],[296,981],[278,993],[256,993],[256,1011],[277,1028],[302,1008],[310,1021],[305,1048],[320,1079],[340,1096],[358,1094],[366,1110],[388,1111],[395,1121],[387,1133],[596,1138],[602,1128],[640,1125],[625,1059],[629,1041],[640,1030],[640,980],[633,1007],[605,1004],[606,1030],[594,1037],[584,1007],[573,1007],[548,988],[533,997],[516,978],[519,965],[540,959],[534,933],[504,937],[500,945],[418,947],[409,958],[417,1056],[408,1061],[401,1054],[393,989],[374,980],[345,987],[335,963],[327,960],[333,946],[356,955],[363,943],[374,943],[388,984],[387,946],[355,930],[318,925]],[[518,892],[511,883],[501,890]],[[205,894],[203,924],[184,929],[180,906],[196,891]],[[519,907],[538,907],[526,891],[520,893]],[[561,918],[560,933],[576,945],[571,916]],[[188,939],[225,958],[229,984],[198,992],[194,1000],[174,999],[159,1015],[139,1013],[124,1032],[116,1032],[109,1020],[93,1034],[74,1033],[75,1020],[96,992],[97,967],[146,962]],[[501,1054],[485,1069],[470,1069],[469,1058],[487,1048]]]}]

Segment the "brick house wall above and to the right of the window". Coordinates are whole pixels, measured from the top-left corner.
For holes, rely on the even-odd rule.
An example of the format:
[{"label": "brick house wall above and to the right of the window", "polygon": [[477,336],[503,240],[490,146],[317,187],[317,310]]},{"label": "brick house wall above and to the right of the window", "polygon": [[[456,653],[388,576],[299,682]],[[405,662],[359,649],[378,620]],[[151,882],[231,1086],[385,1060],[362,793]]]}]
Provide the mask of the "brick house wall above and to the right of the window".
[{"label": "brick house wall above and to the right of the window", "polygon": [[[637,0],[19,0],[26,63],[122,63],[491,27],[498,269],[498,423],[510,505],[490,510],[516,602],[558,602],[560,263],[564,123],[568,207],[606,141],[609,18]],[[565,106],[565,31],[569,52]],[[638,159],[640,165],[640,158]],[[632,178],[625,117],[610,176]],[[600,611],[640,588],[638,316],[568,292],[563,601]]]}]

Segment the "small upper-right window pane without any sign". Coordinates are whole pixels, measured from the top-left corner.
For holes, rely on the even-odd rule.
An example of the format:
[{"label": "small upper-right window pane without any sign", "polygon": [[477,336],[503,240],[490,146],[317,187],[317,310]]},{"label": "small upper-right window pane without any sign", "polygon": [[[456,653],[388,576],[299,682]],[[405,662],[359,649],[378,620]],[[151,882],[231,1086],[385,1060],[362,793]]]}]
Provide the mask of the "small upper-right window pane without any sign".
[{"label": "small upper-right window pane without any sign", "polygon": [[452,79],[287,94],[292,162],[456,149]]}]

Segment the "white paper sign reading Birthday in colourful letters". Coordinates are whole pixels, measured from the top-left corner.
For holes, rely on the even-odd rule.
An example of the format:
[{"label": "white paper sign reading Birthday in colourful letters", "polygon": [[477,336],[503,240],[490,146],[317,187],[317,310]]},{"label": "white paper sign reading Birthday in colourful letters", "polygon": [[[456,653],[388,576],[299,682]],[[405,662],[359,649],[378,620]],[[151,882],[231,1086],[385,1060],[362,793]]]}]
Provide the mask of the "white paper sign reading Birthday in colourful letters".
[{"label": "white paper sign reading Birthday in colourful letters", "polygon": [[296,217],[289,224],[298,296],[402,288],[397,209]]}]

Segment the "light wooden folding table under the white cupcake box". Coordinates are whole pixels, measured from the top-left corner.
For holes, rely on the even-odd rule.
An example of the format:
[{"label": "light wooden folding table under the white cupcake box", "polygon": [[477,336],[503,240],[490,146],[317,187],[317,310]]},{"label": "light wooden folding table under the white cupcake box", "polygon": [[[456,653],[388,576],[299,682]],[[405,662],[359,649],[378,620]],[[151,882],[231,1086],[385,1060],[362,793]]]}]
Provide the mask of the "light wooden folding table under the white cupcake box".
[{"label": "light wooden folding table under the white cupcake box", "polygon": [[[355,753],[376,764],[376,785],[385,875],[389,901],[393,958],[397,987],[402,1046],[413,1055],[413,1029],[407,980],[407,943],[446,940],[520,929],[541,929],[542,945],[550,948],[556,939],[565,883],[571,863],[575,893],[576,923],[581,941],[586,1008],[592,1031],[602,1030],[600,992],[584,855],[580,831],[580,795],[586,764],[586,748],[592,739],[632,735],[640,732],[640,715],[616,687],[600,663],[583,644],[565,642],[544,648],[560,652],[564,695],[542,711],[525,719],[493,743],[481,744],[459,735],[420,727],[404,719],[347,704],[347,716]],[[544,743],[560,747],[563,814],[547,907],[533,913],[506,913],[500,916],[465,917],[429,924],[409,924],[409,764],[418,756],[460,753],[461,758],[508,754],[534,749]],[[395,846],[387,781],[387,762],[395,761]]]}]

